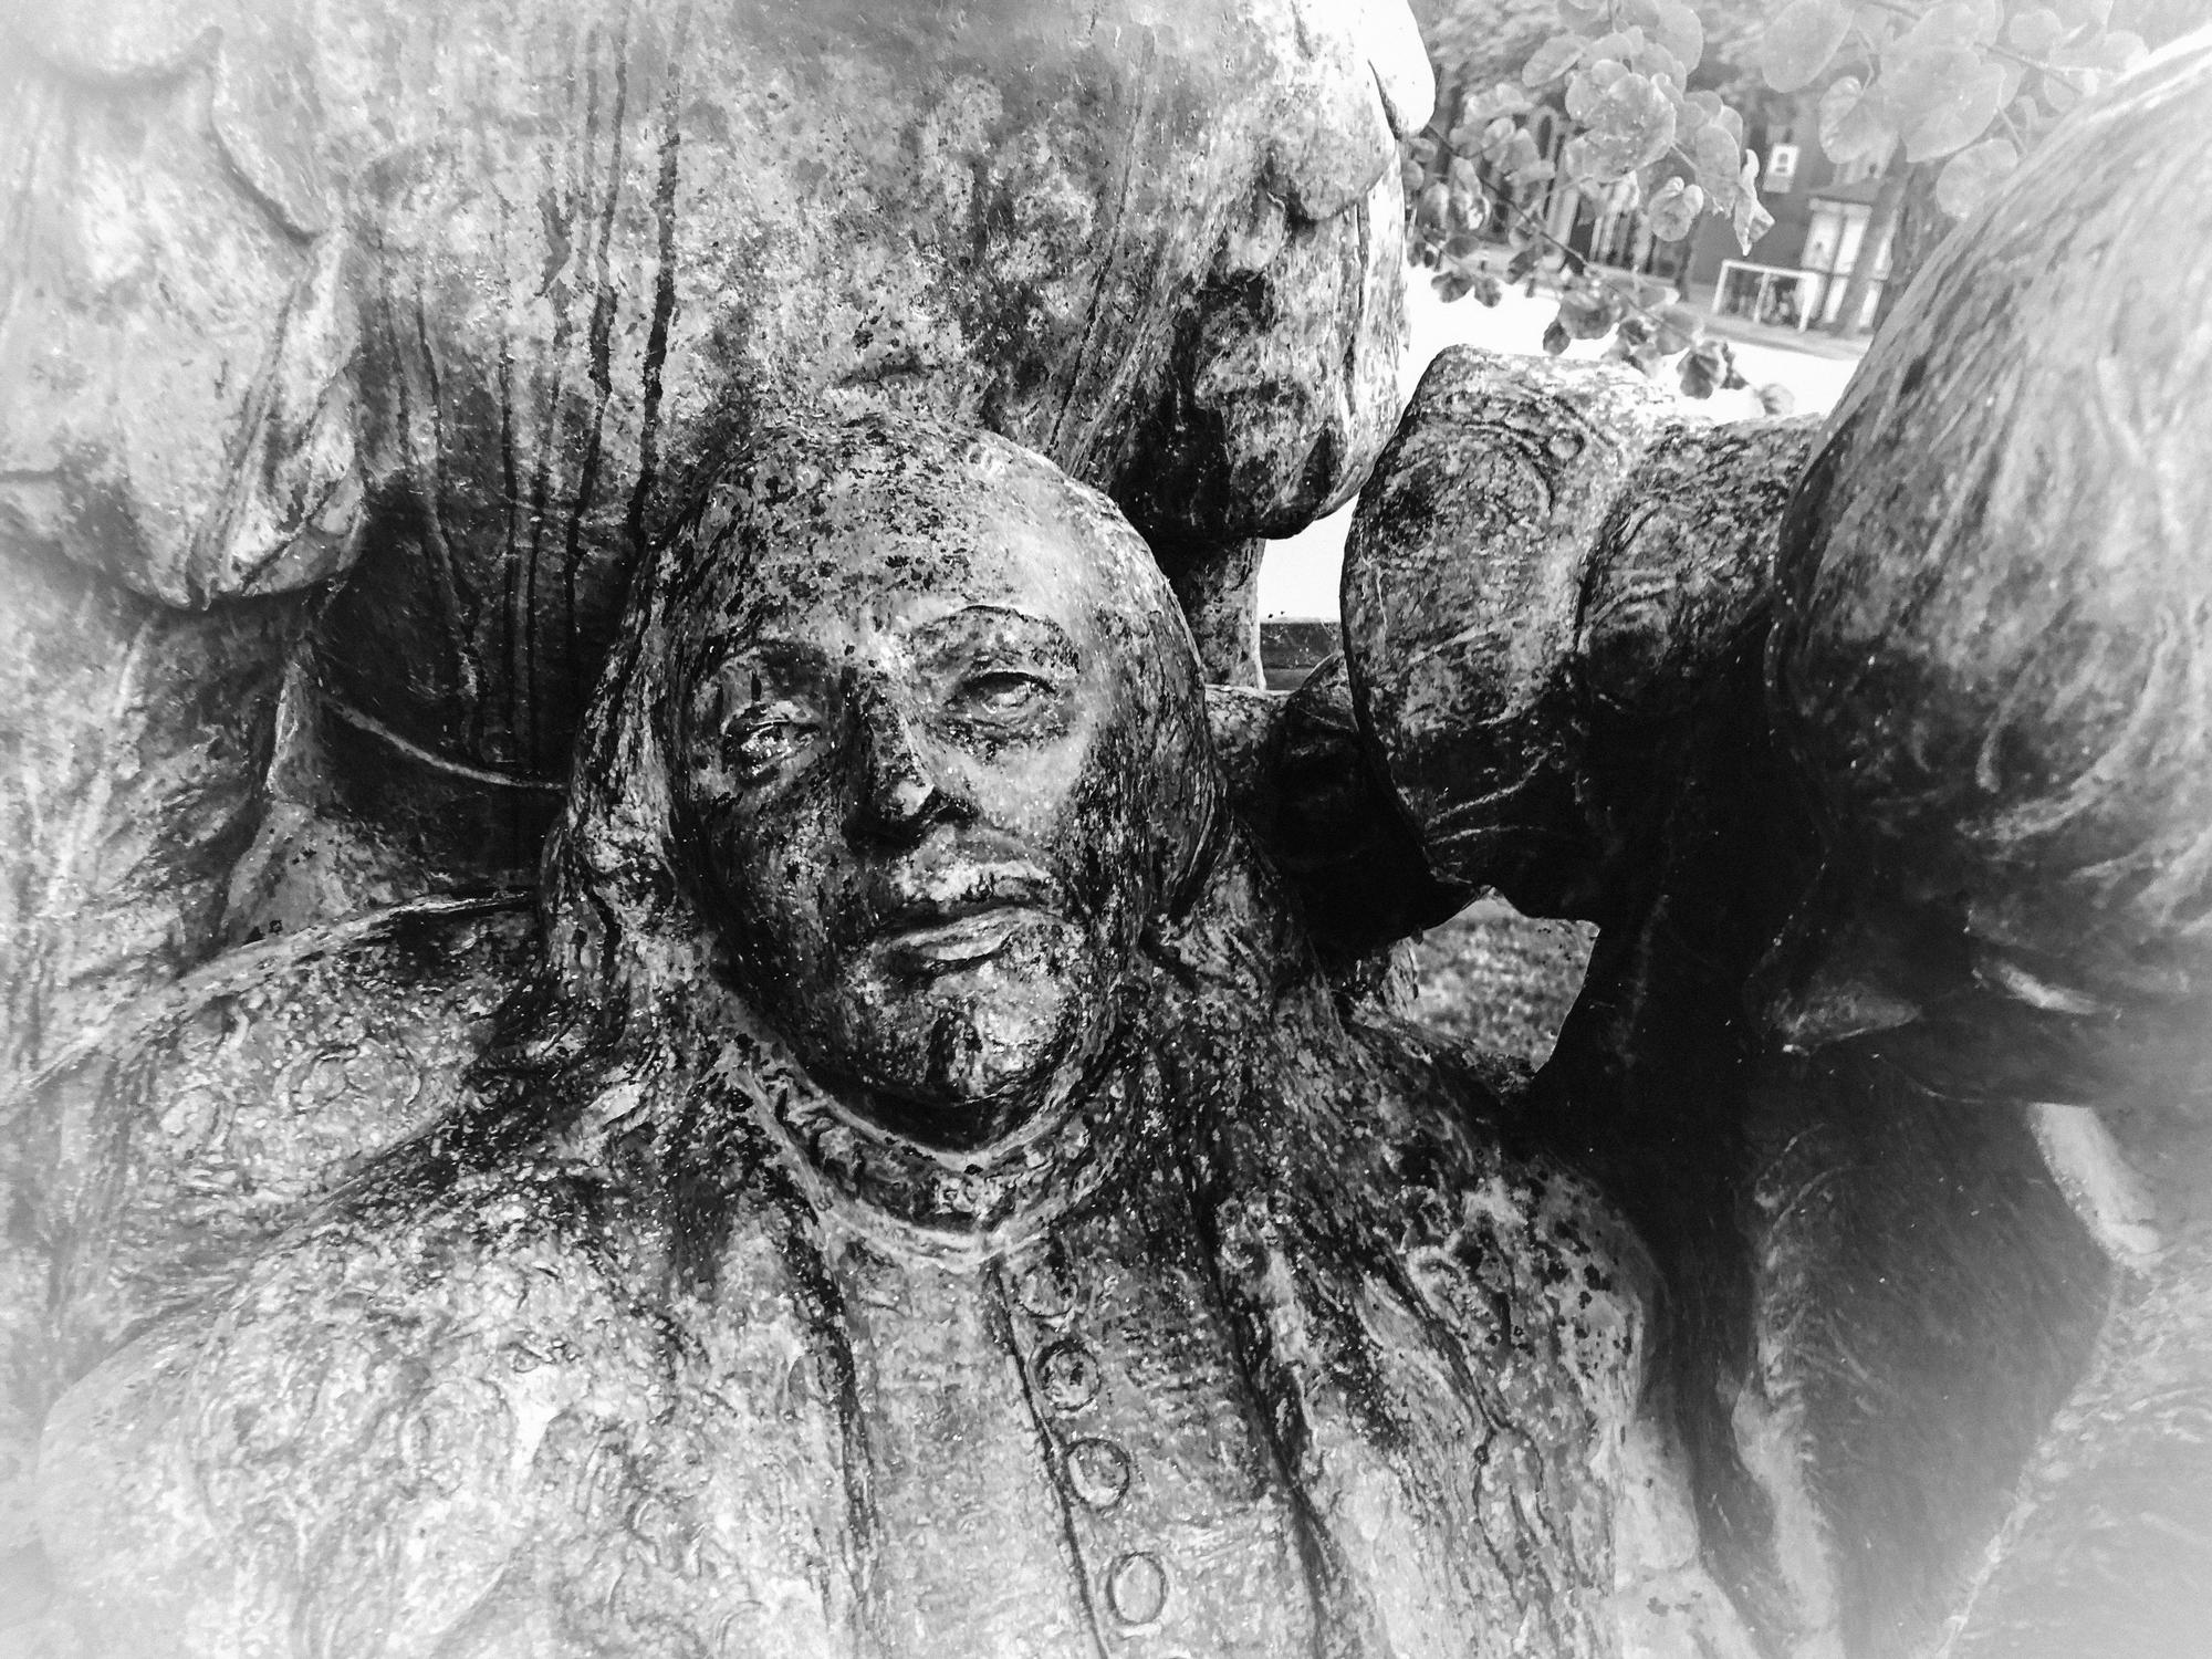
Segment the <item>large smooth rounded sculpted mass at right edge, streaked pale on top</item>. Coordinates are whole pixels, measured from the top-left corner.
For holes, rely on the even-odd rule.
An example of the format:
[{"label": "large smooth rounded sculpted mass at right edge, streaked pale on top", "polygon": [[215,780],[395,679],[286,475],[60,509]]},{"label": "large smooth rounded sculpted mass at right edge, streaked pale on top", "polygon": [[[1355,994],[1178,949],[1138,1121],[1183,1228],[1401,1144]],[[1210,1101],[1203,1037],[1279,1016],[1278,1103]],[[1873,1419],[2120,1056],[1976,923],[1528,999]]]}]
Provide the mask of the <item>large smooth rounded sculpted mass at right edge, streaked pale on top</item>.
[{"label": "large smooth rounded sculpted mass at right edge, streaked pale on top", "polygon": [[2046,1006],[2212,987],[2208,113],[2197,42],[2055,133],[1913,285],[1785,533],[1774,712],[1838,856]]}]

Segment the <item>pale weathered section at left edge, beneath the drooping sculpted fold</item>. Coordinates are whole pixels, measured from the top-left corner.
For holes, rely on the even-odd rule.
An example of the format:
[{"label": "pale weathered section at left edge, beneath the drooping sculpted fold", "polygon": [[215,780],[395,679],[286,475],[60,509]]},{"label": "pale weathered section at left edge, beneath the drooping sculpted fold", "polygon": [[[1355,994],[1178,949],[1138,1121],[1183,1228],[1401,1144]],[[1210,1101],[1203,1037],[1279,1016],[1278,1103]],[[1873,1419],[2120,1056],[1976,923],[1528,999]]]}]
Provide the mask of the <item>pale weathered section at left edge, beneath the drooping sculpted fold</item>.
[{"label": "pale weathered section at left edge, beneath the drooping sculpted fold", "polygon": [[0,1099],[217,947],[261,821],[290,595],[212,613],[0,553]]}]

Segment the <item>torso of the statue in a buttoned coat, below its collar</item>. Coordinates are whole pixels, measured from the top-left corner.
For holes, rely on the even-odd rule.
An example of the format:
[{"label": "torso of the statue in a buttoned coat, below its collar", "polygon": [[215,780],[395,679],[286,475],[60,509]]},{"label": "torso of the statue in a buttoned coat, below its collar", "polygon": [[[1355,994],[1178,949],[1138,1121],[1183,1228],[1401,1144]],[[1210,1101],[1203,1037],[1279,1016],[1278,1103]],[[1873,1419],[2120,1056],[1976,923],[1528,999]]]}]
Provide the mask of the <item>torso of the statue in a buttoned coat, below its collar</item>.
[{"label": "torso of the statue in a buttoned coat, below its collar", "polygon": [[55,1407],[91,1650],[1723,1644],[1637,1520],[1670,1475],[1586,1194],[1325,1000],[1241,1042],[1267,1082],[1121,1073],[982,1245],[763,1084],[697,1091],[728,1166],[690,1183],[646,1175],[635,1102],[495,1168],[383,1157]]}]

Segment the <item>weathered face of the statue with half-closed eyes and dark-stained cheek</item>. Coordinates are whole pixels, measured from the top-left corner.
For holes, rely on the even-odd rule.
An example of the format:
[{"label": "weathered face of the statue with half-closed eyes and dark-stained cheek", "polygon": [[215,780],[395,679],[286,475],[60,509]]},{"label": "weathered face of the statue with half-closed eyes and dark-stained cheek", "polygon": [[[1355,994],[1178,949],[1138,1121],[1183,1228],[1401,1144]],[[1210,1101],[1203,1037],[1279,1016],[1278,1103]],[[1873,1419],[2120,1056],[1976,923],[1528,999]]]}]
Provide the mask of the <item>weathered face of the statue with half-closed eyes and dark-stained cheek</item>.
[{"label": "weathered face of the statue with half-closed eyes and dark-stained cheek", "polygon": [[807,493],[748,493],[681,648],[686,860],[812,1071],[984,1146],[1106,1040],[1192,834],[1155,781],[1210,763],[1188,644],[1164,672],[1144,544],[1011,445],[876,451]]}]

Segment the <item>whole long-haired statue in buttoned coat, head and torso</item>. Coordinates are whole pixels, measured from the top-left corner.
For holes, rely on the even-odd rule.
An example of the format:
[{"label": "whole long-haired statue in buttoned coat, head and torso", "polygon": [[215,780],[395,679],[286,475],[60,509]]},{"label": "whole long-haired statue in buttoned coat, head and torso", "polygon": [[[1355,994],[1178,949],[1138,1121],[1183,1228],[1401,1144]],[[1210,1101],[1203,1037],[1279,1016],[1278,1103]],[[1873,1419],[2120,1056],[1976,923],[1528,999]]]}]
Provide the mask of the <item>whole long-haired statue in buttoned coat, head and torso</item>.
[{"label": "whole long-haired statue in buttoned coat, head and torso", "polygon": [[241,1197],[106,1219],[64,1650],[1752,1652],[1644,1254],[1506,1073],[1318,973],[1157,564],[1042,458],[757,425],[637,586],[544,929],[281,1219],[312,1117],[124,1130]]}]

